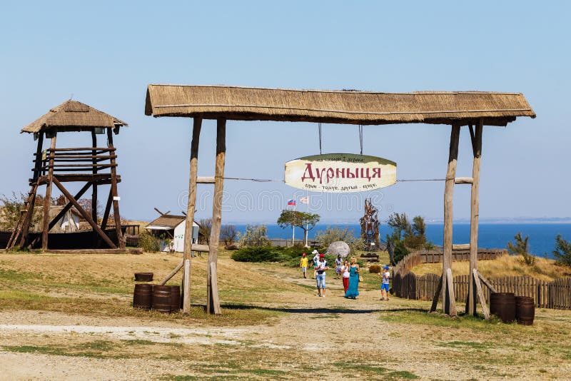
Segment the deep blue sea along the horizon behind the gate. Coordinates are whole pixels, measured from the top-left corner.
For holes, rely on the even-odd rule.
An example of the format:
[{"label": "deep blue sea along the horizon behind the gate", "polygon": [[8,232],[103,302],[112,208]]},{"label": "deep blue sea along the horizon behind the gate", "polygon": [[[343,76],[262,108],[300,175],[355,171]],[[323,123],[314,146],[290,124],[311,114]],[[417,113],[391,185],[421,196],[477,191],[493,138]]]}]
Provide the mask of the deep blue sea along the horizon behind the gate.
[{"label": "deep blue sea along the horizon behind the gate", "polygon": [[[308,238],[311,240],[320,230],[327,226],[346,228],[353,230],[353,235],[360,235],[358,224],[318,224],[309,231]],[[280,228],[276,224],[266,224],[268,238],[291,239],[291,228]],[[243,233],[246,225],[236,225],[236,229]],[[380,238],[390,234],[391,229],[386,224],[380,225]],[[566,240],[571,240],[571,223],[480,223],[478,228],[478,247],[480,248],[507,248],[507,243],[514,240],[514,235],[522,233],[525,238],[529,235],[530,253],[540,257],[553,258],[552,251],[555,249],[555,237],[562,235]],[[444,225],[442,223],[427,223],[426,235],[435,245],[443,244]],[[295,238],[303,238],[303,230],[295,228]],[[470,243],[470,223],[455,223],[453,227],[453,243]]]}]

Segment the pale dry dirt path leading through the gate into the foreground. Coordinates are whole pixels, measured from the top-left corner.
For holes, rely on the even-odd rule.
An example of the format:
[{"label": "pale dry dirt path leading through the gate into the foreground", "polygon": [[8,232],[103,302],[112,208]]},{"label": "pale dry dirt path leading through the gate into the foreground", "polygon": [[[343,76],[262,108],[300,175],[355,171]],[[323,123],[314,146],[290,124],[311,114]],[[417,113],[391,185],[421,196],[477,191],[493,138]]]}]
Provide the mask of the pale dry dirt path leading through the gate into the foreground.
[{"label": "pale dry dirt path leading through the gate into the foreground", "polygon": [[[400,324],[383,317],[400,310],[428,308],[398,298],[379,301],[378,291],[363,291],[357,300],[343,298],[340,280],[328,279],[325,298],[315,296],[313,279],[279,270],[261,273],[305,286],[285,300],[252,303],[283,313],[268,325],[188,327],[180,322],[137,318],[90,317],[35,311],[0,312],[0,347],[36,345],[45,352],[0,351],[0,379],[6,380],[148,380],[175,375],[198,378],[406,378],[468,380],[559,377],[571,374],[570,362],[551,369],[511,363],[470,365],[470,347],[443,345],[463,337],[476,349],[487,335],[458,327]],[[468,339],[466,339],[468,337]],[[54,355],[52,347],[108,345],[116,356],[98,358]],[[82,346],[83,345],[83,346]],[[114,345],[114,346],[113,346]],[[138,345],[138,346],[137,346]],[[154,348],[154,349],[153,349]],[[157,350],[156,348],[160,348]],[[505,357],[509,350],[489,347],[485,355]],[[114,351],[114,352],[113,352]],[[154,352],[153,352],[154,351]],[[482,355],[482,352],[474,352]],[[570,352],[571,353],[571,352]],[[175,358],[183,356],[184,360]],[[169,357],[170,356],[170,357]],[[269,370],[268,370],[269,369]],[[244,373],[241,373],[244,372]]]}]

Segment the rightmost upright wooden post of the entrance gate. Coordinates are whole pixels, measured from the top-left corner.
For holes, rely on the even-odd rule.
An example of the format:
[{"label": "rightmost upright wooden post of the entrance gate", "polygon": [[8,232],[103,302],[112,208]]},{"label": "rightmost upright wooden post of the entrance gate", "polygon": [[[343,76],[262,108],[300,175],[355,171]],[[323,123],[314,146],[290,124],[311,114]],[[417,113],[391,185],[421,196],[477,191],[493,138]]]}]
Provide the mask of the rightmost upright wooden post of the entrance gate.
[{"label": "rightmost upright wooden post of the entrance gate", "polygon": [[[472,148],[474,153],[474,162],[472,166],[472,193],[470,194],[470,284],[468,285],[468,303],[466,303],[466,313],[476,315],[476,297],[477,297],[477,228],[478,228],[478,213],[480,210],[480,163],[482,155],[482,130],[484,126],[483,119],[477,123],[475,133],[470,133],[474,136],[472,139]],[[470,126],[470,130],[472,126]],[[482,305],[482,308],[484,306]]]}]

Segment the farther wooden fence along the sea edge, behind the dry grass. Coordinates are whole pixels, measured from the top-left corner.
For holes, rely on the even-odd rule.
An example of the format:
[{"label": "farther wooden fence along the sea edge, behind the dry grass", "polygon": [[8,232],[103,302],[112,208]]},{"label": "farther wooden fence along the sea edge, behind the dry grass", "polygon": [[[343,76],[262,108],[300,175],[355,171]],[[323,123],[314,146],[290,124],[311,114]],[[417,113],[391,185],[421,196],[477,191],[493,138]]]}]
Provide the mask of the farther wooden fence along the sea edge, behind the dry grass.
[{"label": "farther wooden fence along the sea edge, behind the dry grass", "polygon": [[[507,255],[507,250],[484,248],[477,250],[478,260],[493,260],[501,257],[502,255]],[[395,265],[393,273],[405,275],[410,270],[415,268],[415,266],[420,265],[421,263],[442,263],[442,258],[442,250],[418,250],[410,253],[409,255],[406,255],[405,258],[400,260],[400,262]],[[470,260],[470,251],[454,250],[452,252],[452,260]]]}]

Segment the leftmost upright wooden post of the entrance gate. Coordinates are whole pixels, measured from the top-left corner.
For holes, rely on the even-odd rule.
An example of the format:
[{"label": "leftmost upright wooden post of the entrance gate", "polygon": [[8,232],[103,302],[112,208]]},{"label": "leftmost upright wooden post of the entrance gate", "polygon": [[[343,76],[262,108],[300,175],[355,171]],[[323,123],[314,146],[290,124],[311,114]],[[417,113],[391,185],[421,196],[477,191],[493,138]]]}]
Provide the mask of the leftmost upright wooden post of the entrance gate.
[{"label": "leftmost upright wooden post of the entrance gate", "polygon": [[201,138],[202,118],[193,119],[191,142],[191,173],[188,181],[188,203],[184,225],[184,273],[183,273],[183,313],[191,308],[191,261],[194,211],[196,210],[196,177],[198,176],[198,143]]}]

